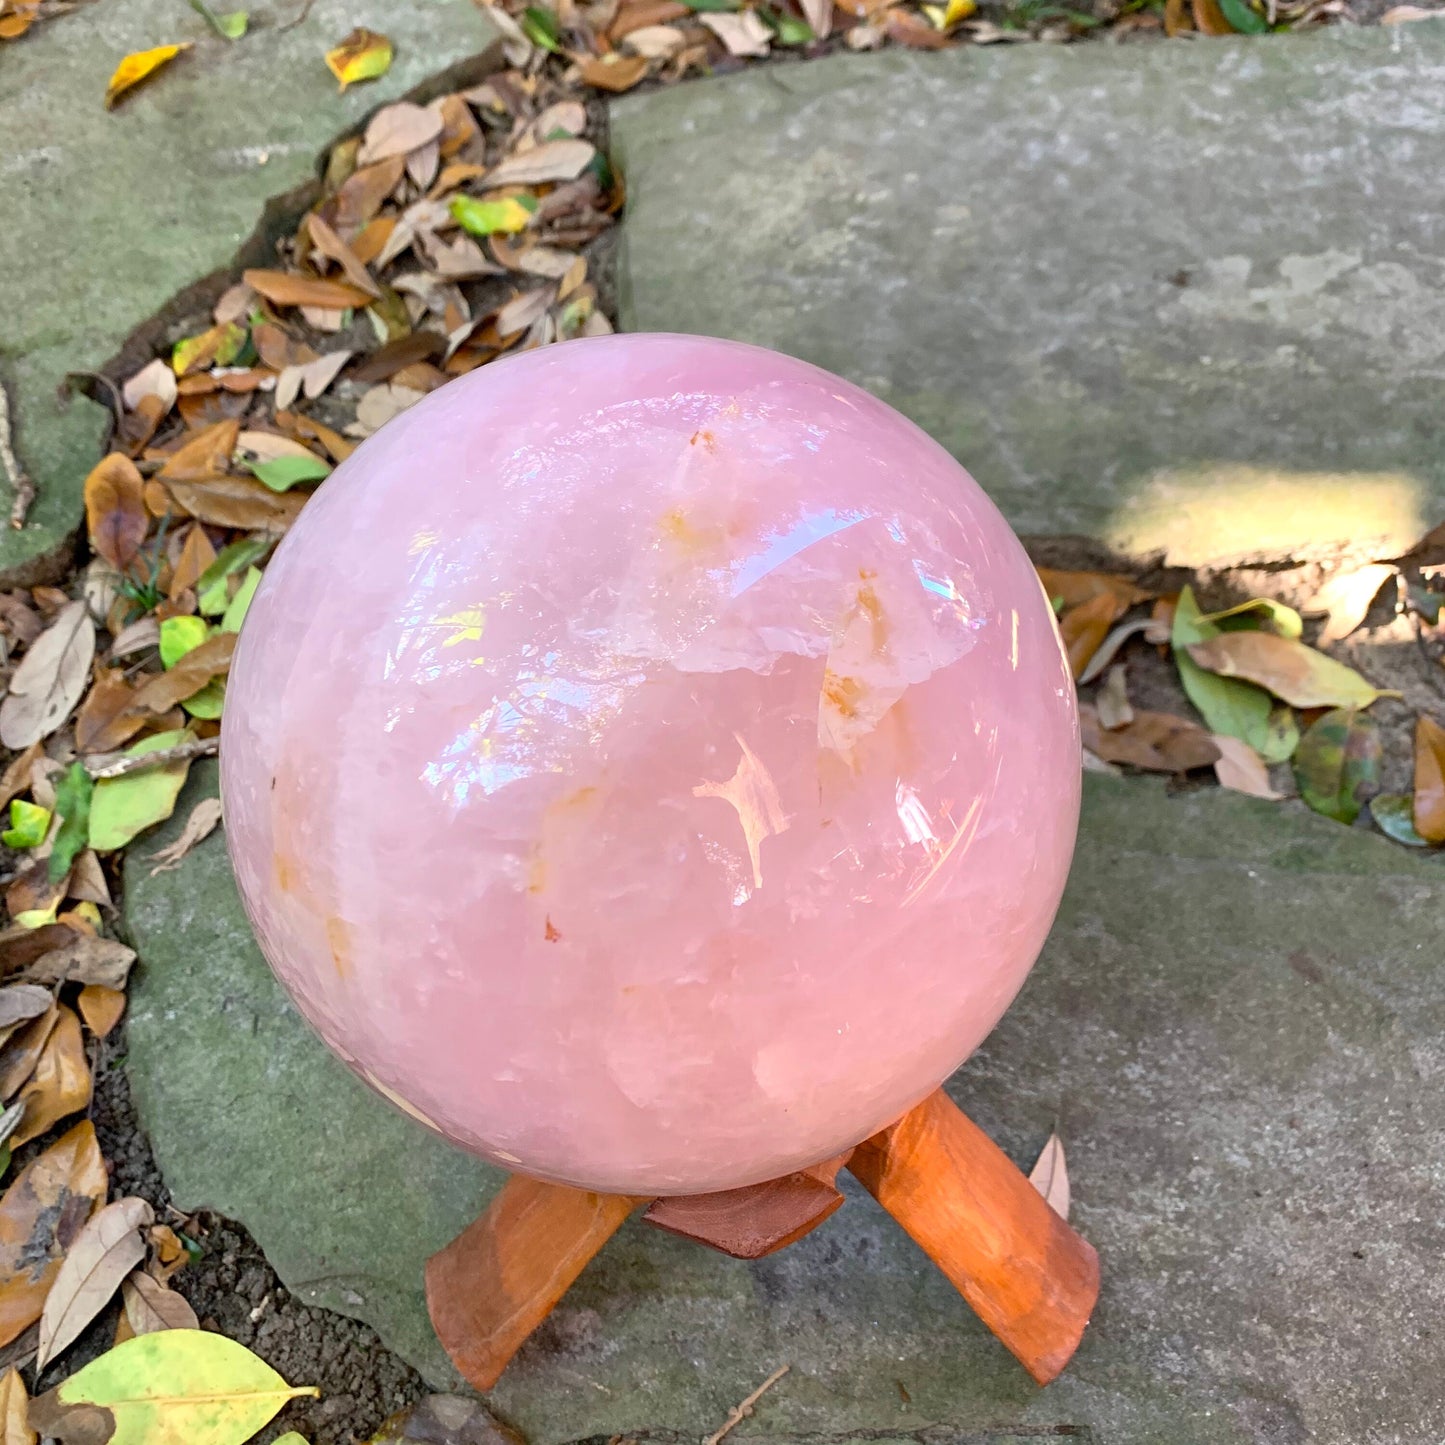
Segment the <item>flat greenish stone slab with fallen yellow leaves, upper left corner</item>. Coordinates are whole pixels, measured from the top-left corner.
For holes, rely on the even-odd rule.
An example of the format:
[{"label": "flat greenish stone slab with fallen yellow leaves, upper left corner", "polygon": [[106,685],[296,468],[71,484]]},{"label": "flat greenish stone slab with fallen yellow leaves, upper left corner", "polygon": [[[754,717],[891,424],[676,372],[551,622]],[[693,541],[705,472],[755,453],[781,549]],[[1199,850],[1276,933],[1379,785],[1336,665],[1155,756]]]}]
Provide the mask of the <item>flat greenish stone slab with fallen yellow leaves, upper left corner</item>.
[{"label": "flat greenish stone slab with fallen yellow leaves, upper left corner", "polygon": [[[228,43],[178,0],[105,0],[4,48],[0,376],[39,487],[23,532],[0,520],[4,585],[53,574],[81,517],[104,412],[84,399],[62,407],[65,373],[103,366],[178,290],[225,266],[267,198],[309,179],[332,136],[496,35],[471,0],[315,0],[282,30],[299,9],[256,6],[251,32]],[[322,56],[358,25],[389,35],[396,59],[338,94]],[[194,49],[103,108],[123,55],[181,40]],[[0,477],[0,519],[9,510]]]}]

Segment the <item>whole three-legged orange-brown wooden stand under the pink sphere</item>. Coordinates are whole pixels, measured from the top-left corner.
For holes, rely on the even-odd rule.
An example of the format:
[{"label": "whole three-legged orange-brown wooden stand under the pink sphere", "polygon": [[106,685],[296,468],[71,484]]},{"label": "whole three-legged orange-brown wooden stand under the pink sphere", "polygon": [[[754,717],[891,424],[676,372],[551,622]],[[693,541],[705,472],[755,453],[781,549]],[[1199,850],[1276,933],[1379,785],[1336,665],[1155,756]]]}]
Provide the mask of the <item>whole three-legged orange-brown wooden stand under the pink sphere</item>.
[{"label": "whole three-legged orange-brown wooden stand under the pink sphere", "polygon": [[1068,1364],[1098,1298],[1098,1256],[942,1090],[851,1153],[747,1189],[649,1202],[514,1175],[428,1260],[432,1325],[467,1380],[490,1390],[634,1208],[647,1205],[657,1228],[762,1259],[842,1204],[842,1168],[1039,1384]]}]

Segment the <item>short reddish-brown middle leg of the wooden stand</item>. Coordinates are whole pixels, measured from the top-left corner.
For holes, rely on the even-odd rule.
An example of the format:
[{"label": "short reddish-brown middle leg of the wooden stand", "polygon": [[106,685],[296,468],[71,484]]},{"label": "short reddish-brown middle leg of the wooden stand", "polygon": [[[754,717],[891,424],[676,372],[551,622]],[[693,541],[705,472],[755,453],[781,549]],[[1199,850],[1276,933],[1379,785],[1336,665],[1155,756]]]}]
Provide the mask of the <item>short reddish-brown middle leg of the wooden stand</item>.
[{"label": "short reddish-brown middle leg of the wooden stand", "polygon": [[832,1181],[844,1159],[847,1155],[743,1189],[655,1199],[643,1220],[734,1259],[763,1259],[838,1209],[842,1195]]}]

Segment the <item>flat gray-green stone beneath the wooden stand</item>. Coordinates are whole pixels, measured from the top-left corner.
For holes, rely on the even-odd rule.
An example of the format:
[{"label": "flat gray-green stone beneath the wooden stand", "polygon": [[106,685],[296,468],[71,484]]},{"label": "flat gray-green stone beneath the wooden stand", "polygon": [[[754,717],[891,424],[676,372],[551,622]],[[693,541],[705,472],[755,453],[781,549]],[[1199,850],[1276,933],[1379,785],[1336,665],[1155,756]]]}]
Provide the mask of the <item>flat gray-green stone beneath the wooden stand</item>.
[{"label": "flat gray-green stone beneath the wooden stand", "polygon": [[[212,835],[131,850],[129,1069],[185,1207],[438,1384],[425,1257],[497,1175],[368,1094],[273,983]],[[1085,779],[1058,925],[952,1081],[1027,1163],[1058,1124],[1104,1290],[1036,1390],[867,1198],[743,1264],[629,1225],[494,1392],[533,1445],[694,1439],[779,1364],[743,1439],[1425,1441],[1445,1418],[1442,864],[1220,790]],[[961,964],[967,967],[961,941]],[[870,1436],[870,1438],[871,1438]]]}]

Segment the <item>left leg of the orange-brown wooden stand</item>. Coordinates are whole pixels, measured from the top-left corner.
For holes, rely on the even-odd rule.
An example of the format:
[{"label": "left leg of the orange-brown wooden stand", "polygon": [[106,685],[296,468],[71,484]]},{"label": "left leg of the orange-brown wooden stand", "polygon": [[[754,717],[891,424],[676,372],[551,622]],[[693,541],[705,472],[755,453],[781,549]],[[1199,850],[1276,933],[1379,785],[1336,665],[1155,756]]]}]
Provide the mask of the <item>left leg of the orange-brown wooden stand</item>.
[{"label": "left leg of the orange-brown wooden stand", "polygon": [[478,1390],[490,1390],[587,1263],[640,1204],[514,1175],[426,1261],[436,1338]]}]

